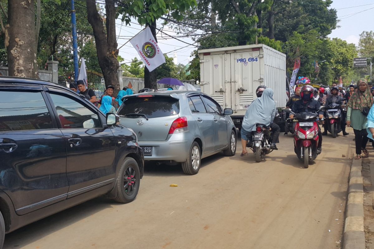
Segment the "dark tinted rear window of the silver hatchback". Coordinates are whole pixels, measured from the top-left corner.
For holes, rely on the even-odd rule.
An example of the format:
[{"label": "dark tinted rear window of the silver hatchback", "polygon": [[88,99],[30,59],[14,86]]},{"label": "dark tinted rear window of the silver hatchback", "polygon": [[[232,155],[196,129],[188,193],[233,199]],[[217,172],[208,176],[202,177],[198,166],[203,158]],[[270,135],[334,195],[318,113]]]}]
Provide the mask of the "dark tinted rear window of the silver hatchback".
[{"label": "dark tinted rear window of the silver hatchback", "polygon": [[147,118],[177,115],[179,100],[167,96],[131,97],[123,102],[118,115],[125,116],[130,113],[144,114]]}]

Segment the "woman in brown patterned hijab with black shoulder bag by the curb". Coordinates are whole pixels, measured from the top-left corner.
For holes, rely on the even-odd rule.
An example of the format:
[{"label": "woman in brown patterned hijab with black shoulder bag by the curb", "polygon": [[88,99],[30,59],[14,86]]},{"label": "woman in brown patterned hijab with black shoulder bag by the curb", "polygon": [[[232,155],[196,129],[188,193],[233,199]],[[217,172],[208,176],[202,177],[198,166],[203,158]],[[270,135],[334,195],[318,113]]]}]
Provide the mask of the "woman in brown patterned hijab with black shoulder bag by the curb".
[{"label": "woman in brown patterned hijab with black shoulder bag by the curb", "polygon": [[361,158],[361,152],[365,155],[362,157],[368,157],[369,152],[366,149],[368,142],[367,137],[367,112],[368,108],[373,106],[374,100],[370,93],[368,84],[365,81],[359,81],[358,91],[353,93],[350,97],[347,106],[347,125],[353,127],[355,132],[356,142],[356,157],[355,159]]}]

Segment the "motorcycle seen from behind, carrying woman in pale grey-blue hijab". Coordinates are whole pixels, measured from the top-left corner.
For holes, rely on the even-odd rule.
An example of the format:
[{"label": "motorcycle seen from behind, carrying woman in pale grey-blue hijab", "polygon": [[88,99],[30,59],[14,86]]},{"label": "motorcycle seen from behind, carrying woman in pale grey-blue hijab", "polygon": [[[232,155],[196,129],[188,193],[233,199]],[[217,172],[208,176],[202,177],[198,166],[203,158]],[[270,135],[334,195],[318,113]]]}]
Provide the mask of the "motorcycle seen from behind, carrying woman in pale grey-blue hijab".
[{"label": "motorcycle seen from behind, carrying woman in pale grey-blue hijab", "polygon": [[247,144],[255,154],[256,162],[261,162],[265,155],[273,151],[270,148],[270,138],[270,128],[263,124],[256,124],[256,131],[252,131],[252,141]]}]

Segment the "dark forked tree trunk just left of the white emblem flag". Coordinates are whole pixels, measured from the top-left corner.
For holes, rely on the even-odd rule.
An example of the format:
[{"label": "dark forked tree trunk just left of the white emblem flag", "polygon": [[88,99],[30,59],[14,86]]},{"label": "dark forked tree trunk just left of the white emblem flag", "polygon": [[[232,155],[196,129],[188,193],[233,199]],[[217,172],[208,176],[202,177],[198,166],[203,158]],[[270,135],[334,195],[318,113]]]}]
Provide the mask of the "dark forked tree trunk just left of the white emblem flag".
[{"label": "dark forked tree trunk just left of the white emblem flag", "polygon": [[120,90],[118,69],[119,63],[117,60],[117,40],[116,40],[116,6],[114,1],[105,0],[106,12],[106,31],[103,25],[101,16],[99,15],[96,3],[92,0],[86,0],[88,22],[93,29],[95,36],[96,52],[99,59],[99,65],[104,76],[105,85],[112,85],[114,87],[114,96]]}]

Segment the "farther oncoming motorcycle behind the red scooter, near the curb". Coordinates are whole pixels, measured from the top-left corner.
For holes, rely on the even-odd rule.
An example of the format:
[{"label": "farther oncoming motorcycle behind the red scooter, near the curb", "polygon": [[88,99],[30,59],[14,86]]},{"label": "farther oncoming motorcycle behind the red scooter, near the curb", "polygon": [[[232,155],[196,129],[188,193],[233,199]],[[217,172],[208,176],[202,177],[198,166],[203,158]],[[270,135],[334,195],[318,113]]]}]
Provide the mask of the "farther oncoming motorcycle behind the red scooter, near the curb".
[{"label": "farther oncoming motorcycle behind the red scooter, near the curb", "polygon": [[336,137],[341,132],[341,112],[344,106],[337,103],[331,103],[326,106],[325,122],[327,122],[327,130],[331,133],[332,137]]}]

